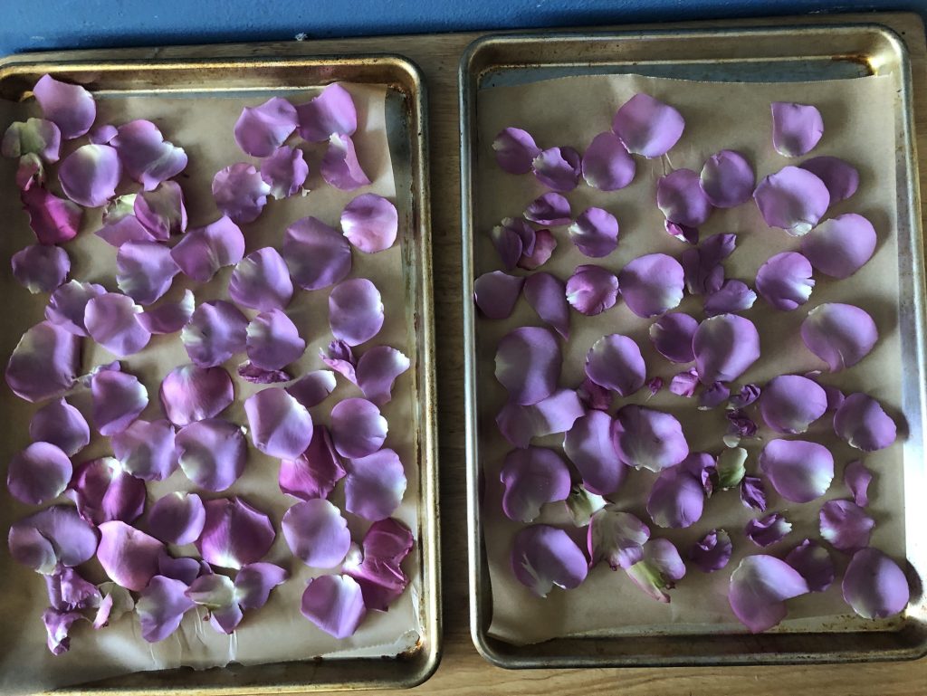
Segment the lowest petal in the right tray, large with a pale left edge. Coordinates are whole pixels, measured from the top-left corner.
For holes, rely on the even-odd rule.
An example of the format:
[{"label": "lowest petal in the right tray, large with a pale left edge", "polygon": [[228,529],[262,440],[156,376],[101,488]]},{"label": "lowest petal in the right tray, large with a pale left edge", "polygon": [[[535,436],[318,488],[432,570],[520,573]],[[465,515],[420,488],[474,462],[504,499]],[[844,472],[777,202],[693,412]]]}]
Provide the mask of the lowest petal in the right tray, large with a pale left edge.
[{"label": "lowest petal in the right tray, large with a pale left edge", "polygon": [[751,633],[776,626],[785,618],[785,601],[808,591],[805,578],[778,558],[747,556],[730,574],[730,608]]}]

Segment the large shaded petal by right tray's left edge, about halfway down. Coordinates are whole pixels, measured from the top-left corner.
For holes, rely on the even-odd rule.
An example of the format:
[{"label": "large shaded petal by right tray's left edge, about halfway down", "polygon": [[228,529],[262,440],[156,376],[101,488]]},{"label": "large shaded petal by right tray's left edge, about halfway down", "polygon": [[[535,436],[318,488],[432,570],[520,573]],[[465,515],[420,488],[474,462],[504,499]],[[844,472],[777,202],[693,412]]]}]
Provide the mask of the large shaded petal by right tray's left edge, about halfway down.
[{"label": "large shaded petal by right tray's left edge, about halfway down", "polygon": [[509,399],[530,406],[547,399],[560,378],[560,345],[549,329],[523,326],[502,337],[496,350],[496,379]]}]

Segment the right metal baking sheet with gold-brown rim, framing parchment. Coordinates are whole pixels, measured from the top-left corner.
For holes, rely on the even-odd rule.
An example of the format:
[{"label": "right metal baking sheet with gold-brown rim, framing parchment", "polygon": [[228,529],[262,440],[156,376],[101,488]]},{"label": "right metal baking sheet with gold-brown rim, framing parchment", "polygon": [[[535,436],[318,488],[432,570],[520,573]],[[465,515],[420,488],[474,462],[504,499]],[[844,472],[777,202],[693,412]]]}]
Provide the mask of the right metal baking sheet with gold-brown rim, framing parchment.
[{"label": "right metal baking sheet with gold-brown rim, framing parchment", "polygon": [[[877,17],[877,16],[876,16]],[[913,16],[912,16],[913,17]],[[912,19],[914,26],[916,19]],[[907,32],[923,42],[922,32]],[[917,497],[927,490],[922,437],[924,415],[923,247],[921,201],[915,163],[912,88],[905,41],[876,24],[766,26],[691,31],[565,32],[493,35],[477,40],[460,64],[461,196],[463,221],[463,301],[468,476],[470,623],[476,648],[493,664],[509,668],[603,667],[693,664],[782,664],[913,659],[927,654],[927,602],[913,588],[908,610],[893,630],[816,631],[749,636],[716,631],[672,635],[643,631],[624,637],[559,638],[515,646],[489,635],[492,588],[480,511],[482,489],[482,376],[477,372],[479,336],[473,304],[474,229],[479,152],[477,95],[497,85],[551,78],[640,74],[704,82],[814,82],[887,75],[895,82],[900,108],[895,113],[897,191],[896,234],[901,359],[906,385],[902,408],[908,418],[904,477],[908,504],[903,506],[908,563],[917,574],[927,570],[921,542],[927,518]],[[485,425],[483,425],[485,427]],[[913,502],[912,502],[913,500]],[[900,501],[899,501],[900,504]],[[668,635],[667,635],[668,633]]]}]

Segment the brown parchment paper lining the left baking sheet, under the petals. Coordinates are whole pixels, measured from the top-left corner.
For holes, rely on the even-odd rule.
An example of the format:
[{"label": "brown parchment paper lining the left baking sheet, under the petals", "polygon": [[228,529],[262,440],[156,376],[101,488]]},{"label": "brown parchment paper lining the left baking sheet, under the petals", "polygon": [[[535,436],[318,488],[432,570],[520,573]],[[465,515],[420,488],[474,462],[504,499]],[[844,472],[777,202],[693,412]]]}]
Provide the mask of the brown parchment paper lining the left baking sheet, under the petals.
[{"label": "brown parchment paper lining the left baking sheet, under the petals", "polygon": [[[280,248],[286,226],[299,218],[313,215],[338,226],[341,210],[354,196],[374,192],[394,200],[400,213],[400,221],[406,219],[407,196],[397,196],[394,162],[387,142],[387,88],[371,85],[348,85],[357,105],[359,126],[354,142],[358,157],[372,184],[355,192],[337,191],[324,183],[318,173],[324,146],[298,141],[310,165],[310,177],[306,187],[311,193],[293,196],[286,200],[269,199],[257,221],[242,226],[246,238],[246,253],[260,247]],[[274,93],[276,94],[276,93]],[[294,103],[311,98],[313,91],[286,94]],[[98,99],[97,123],[122,123],[136,118],[155,121],[165,137],[177,145],[184,146],[189,155],[189,166],[178,177],[184,189],[190,227],[207,224],[218,218],[218,211],[212,202],[210,184],[216,171],[237,161],[256,161],[245,156],[235,145],[233,126],[245,106],[255,106],[271,94],[235,95],[227,98],[217,95],[190,95],[164,98],[159,95],[101,95]],[[0,103],[5,113],[0,113],[0,122],[21,119],[26,114],[34,115],[34,104],[14,108]],[[72,144],[71,144],[72,145]],[[62,155],[63,158],[63,155]],[[401,162],[396,166],[402,166]],[[19,200],[13,173],[15,166],[9,160],[0,164],[0,220],[5,226],[3,234],[4,263],[17,249],[32,244],[32,233],[28,219],[19,209]],[[57,171],[52,167],[51,171]],[[128,187],[127,191],[128,192]],[[71,276],[84,281],[100,283],[116,290],[116,249],[109,247],[93,231],[99,228],[100,211],[90,212],[84,221],[81,234],[67,245],[71,257]],[[403,238],[400,231],[400,240]],[[177,299],[185,287],[194,290],[197,305],[200,302],[227,297],[229,275],[232,269],[222,269],[207,285],[189,284],[183,276],[177,276],[170,293],[164,299]],[[380,289],[386,307],[386,322],[370,346],[387,344],[399,348],[413,361],[410,372],[403,374],[396,382],[393,399],[382,411],[389,424],[389,435],[385,447],[395,449],[406,467],[408,487],[400,509],[394,516],[409,525],[418,544],[417,505],[419,498],[418,471],[415,464],[413,420],[412,373],[415,342],[412,327],[407,321],[404,309],[405,296],[402,282],[403,269],[400,243],[378,254],[353,252],[353,269],[349,277],[370,278]],[[0,274],[0,297],[3,297],[4,332],[2,360],[6,364],[9,353],[19,340],[19,335],[33,323],[43,318],[44,295],[31,297],[19,286],[9,272]],[[324,369],[319,359],[319,348],[325,348],[331,340],[327,321],[328,290],[313,292],[297,288],[293,302],[286,308],[287,314],[298,325],[300,335],[307,342],[303,357],[291,366],[292,374]],[[244,310],[248,316],[257,312]],[[83,369],[88,372],[93,366],[113,360],[107,351],[92,341],[84,342]],[[91,347],[92,348],[88,348]],[[365,346],[359,347],[362,354]],[[245,357],[235,356],[225,364],[235,378],[235,403],[223,411],[223,416],[237,424],[248,424],[242,407],[260,387],[249,385],[237,378],[235,367]],[[123,369],[138,375],[148,390],[149,405],[143,418],[153,420],[161,415],[158,389],[164,374],[178,364],[189,362],[178,335],[153,336],[149,346],[141,353],[122,360]],[[362,396],[357,387],[337,378],[335,392],[322,404],[311,409],[313,421],[328,424],[331,408],[341,399]],[[86,415],[92,424],[89,394],[75,390],[70,400]],[[0,442],[0,462],[6,462],[29,442],[29,419],[39,405],[28,404],[15,399],[4,387],[0,398],[0,418],[6,437]],[[180,630],[159,643],[149,644],[141,637],[137,617],[127,614],[119,621],[99,631],[88,623],[79,623],[71,631],[70,652],[55,657],[45,648],[44,627],[41,614],[47,605],[44,582],[10,558],[6,544],[3,544],[3,572],[0,573],[0,692],[17,694],[37,690],[68,686],[84,681],[111,677],[143,670],[164,669],[188,665],[194,667],[222,666],[228,663],[261,664],[307,660],[315,656],[339,657],[382,657],[395,656],[413,646],[421,630],[418,610],[418,594],[421,588],[418,552],[413,550],[403,567],[413,578],[408,590],[390,606],[387,613],[370,612],[357,633],[349,639],[331,638],[299,613],[299,601],[307,581],[312,576],[337,573],[338,568],[317,569],[306,567],[290,553],[286,539],[280,533],[280,520],[295,499],[283,495],[277,486],[279,463],[261,454],[250,446],[248,437],[248,465],[245,474],[226,492],[203,494],[213,498],[226,495],[240,495],[244,500],[270,515],[277,538],[266,561],[278,563],[290,571],[286,583],[275,588],[267,605],[257,611],[245,614],[245,619],[232,636],[217,633],[203,613],[191,611],[185,615]],[[75,462],[82,462],[111,453],[108,440],[97,437],[84,449]],[[337,488],[333,500],[344,510],[343,486]],[[149,505],[165,492],[179,489],[194,489],[183,472],[178,469],[165,481],[148,485]],[[201,493],[202,494],[202,493]],[[0,527],[4,530],[11,522],[34,512],[19,504],[4,492],[0,505]],[[344,513],[348,520],[352,538],[360,542],[368,523],[361,518]],[[144,517],[138,525],[145,528]],[[196,554],[193,545],[171,550],[184,554]],[[96,582],[106,579],[99,566],[92,561],[82,566],[82,571]]]}]

